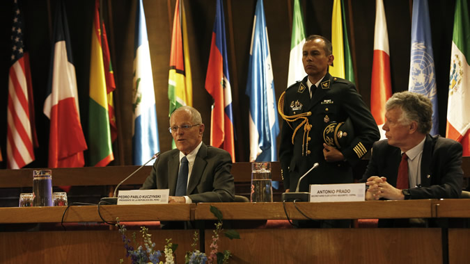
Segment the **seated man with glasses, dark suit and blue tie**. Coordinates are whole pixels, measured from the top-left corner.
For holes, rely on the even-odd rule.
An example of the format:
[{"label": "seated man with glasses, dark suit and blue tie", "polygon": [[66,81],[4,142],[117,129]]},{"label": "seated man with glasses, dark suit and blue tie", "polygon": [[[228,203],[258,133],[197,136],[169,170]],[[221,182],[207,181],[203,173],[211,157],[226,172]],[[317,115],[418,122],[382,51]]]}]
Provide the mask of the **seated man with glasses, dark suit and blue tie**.
[{"label": "seated man with glasses, dark suit and blue tie", "polygon": [[227,151],[203,143],[204,128],[198,110],[176,109],[169,131],[177,149],[159,156],[141,189],[170,189],[169,203],[233,201],[232,158]]}]

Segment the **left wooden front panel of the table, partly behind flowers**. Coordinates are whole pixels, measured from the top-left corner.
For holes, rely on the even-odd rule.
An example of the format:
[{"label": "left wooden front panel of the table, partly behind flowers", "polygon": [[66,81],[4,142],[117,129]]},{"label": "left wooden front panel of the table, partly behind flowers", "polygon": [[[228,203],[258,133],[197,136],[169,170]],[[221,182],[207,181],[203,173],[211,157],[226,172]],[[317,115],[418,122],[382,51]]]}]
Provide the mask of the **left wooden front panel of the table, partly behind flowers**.
[{"label": "left wooden front panel of the table, partly behind flowers", "polygon": [[[152,242],[163,251],[166,238],[178,244],[176,261],[185,263],[191,249],[193,230],[153,230]],[[132,240],[132,231],[127,232]],[[141,233],[136,231],[137,241]],[[0,263],[119,263],[125,258],[125,247],[118,230],[113,231],[38,231],[1,232]],[[164,258],[160,258],[164,260]]]}]

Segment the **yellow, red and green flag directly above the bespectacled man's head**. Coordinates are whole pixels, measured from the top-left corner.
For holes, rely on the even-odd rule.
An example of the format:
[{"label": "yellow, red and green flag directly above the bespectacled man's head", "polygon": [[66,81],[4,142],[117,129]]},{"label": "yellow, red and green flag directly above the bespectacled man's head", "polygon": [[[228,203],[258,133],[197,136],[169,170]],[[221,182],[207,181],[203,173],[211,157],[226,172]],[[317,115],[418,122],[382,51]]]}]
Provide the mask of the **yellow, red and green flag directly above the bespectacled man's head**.
[{"label": "yellow, red and green flag directly above the bespectacled man's head", "polygon": [[180,0],[176,0],[168,79],[169,115],[180,106],[192,106],[192,94],[185,6]]}]

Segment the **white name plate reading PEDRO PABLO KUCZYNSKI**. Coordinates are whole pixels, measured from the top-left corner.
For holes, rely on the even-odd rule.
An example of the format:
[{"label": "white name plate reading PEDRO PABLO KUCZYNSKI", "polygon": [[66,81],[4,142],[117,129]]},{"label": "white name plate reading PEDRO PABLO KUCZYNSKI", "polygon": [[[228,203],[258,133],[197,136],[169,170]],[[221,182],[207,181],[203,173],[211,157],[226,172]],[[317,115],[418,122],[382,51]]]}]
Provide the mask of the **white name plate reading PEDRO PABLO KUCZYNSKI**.
[{"label": "white name plate reading PEDRO PABLO KUCZYNSKI", "polygon": [[169,189],[120,190],[118,205],[122,204],[168,204]]}]

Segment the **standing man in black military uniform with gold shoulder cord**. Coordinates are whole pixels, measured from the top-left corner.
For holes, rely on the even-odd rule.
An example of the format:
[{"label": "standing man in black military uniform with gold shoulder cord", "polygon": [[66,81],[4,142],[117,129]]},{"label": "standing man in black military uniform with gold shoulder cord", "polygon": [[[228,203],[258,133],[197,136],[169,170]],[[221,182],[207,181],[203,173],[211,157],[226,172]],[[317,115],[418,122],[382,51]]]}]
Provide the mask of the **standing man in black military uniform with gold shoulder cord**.
[{"label": "standing man in black military uniform with gold shoulder cord", "polygon": [[[320,35],[306,38],[302,63],[308,76],[291,85],[279,99],[284,119],[279,160],[286,192],[295,191],[299,178],[314,163],[320,165],[302,179],[300,192],[308,192],[310,184],[352,183],[352,166],[380,138],[354,84],[328,73],[333,60],[329,40]],[[324,144],[325,127],[348,118],[354,127],[350,145],[338,149]]]}]

